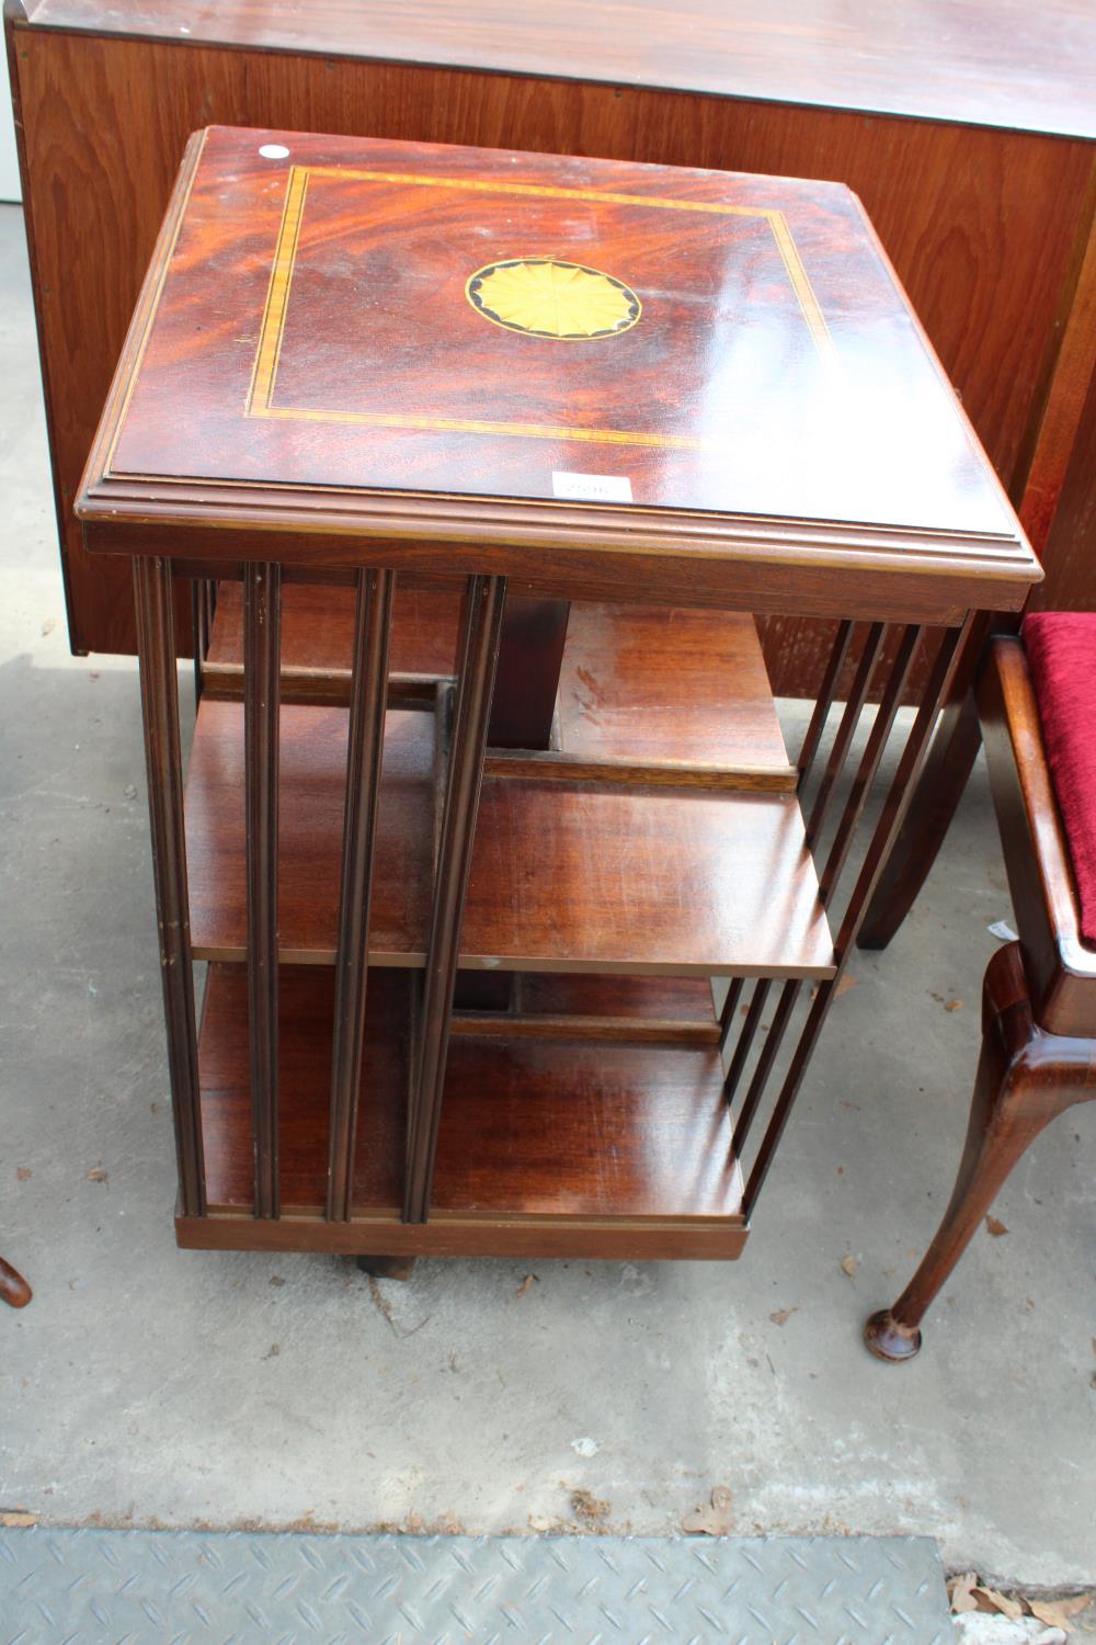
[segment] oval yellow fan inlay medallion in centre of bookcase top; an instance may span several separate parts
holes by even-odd
[[[583,342],[629,331],[642,311],[623,280],[555,257],[521,257],[478,268],[465,286],[485,319],[531,337]]]

